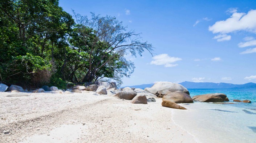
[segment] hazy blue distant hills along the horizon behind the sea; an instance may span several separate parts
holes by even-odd
[[[213,83],[213,82],[182,82],[179,83],[186,88],[256,88],[256,83],[245,83],[245,84],[232,84],[232,83]],[[144,89],[146,87],[153,86],[154,83],[150,84],[141,84],[135,86],[124,86],[124,87],[134,87],[134,88],[141,88]],[[121,87],[121,88],[124,88]]]

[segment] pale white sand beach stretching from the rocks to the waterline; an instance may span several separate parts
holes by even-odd
[[[194,137],[172,121],[162,99],[131,104],[107,95],[0,93],[1,142],[194,143]],[[9,130],[9,134],[3,131]]]

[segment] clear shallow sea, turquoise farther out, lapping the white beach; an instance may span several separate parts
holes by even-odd
[[[194,102],[172,111],[173,121],[202,143],[256,143],[256,88],[188,89],[190,96],[223,93],[235,104]],[[237,103],[233,99],[250,100]]]

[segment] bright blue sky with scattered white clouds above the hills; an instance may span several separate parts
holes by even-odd
[[[256,82],[256,0],[60,0],[60,6],[70,14],[114,16],[153,45],[153,56],[126,55],[136,68],[122,86]]]

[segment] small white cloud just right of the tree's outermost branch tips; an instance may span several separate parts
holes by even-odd
[[[181,58],[178,57],[170,57],[168,54],[160,54],[157,56],[152,57],[153,61],[150,62],[150,64],[154,65],[164,65],[164,67],[174,67],[178,66],[178,64],[173,64],[176,61],[182,60]]]

